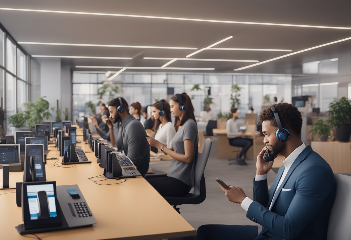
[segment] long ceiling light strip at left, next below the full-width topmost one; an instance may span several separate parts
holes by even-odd
[[[67,43],[54,43],[54,42],[18,42],[18,44],[55,45],[55,46],[84,46],[84,47],[128,47],[128,48],[188,49],[188,50],[197,49],[196,47],[130,46],[130,45],[105,45],[105,44],[67,44]]]

